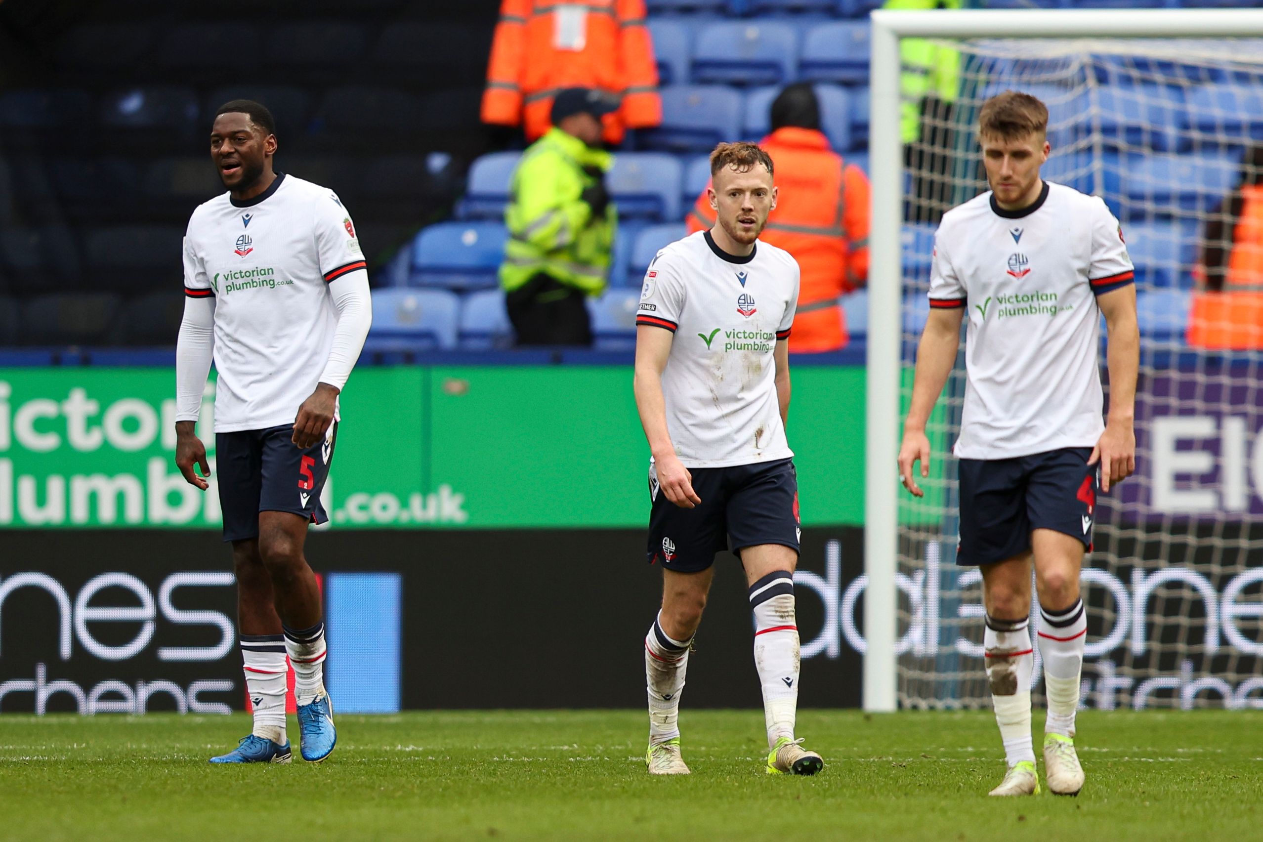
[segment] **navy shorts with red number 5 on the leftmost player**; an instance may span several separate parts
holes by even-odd
[[[215,434],[224,540],[258,538],[260,511],[288,511],[313,524],[328,520],[320,494],[333,462],[337,422],[304,451],[290,441],[293,434],[293,424]]]

